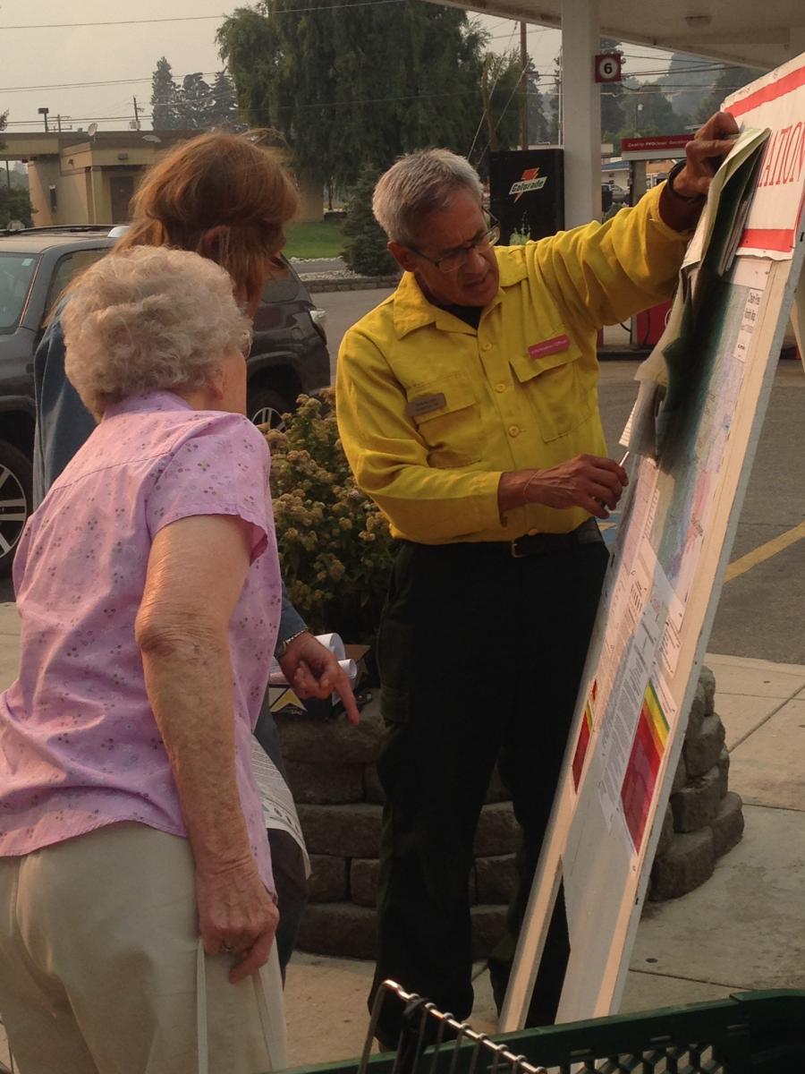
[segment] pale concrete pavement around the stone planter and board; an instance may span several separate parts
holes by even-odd
[[[0,604],[0,690],[19,651],[13,604]],[[744,799],[743,841],[690,895],[648,903],[623,1011],[805,988],[805,666],[708,654],[727,729],[730,787]],[[291,1065],[356,1056],[371,963],[297,954],[286,992]],[[488,976],[475,982],[472,1025],[495,1030]],[[0,1061],[6,1061],[0,1029]]]

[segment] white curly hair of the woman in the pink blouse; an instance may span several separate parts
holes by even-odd
[[[251,342],[232,278],[185,250],[135,246],[96,262],[61,314],[64,371],[87,409],[146,391],[208,384],[223,355]]]

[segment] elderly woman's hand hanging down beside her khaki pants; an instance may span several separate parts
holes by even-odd
[[[195,871],[199,929],[208,955],[237,957],[236,985],[268,961],[279,912],[251,857],[220,869]]]

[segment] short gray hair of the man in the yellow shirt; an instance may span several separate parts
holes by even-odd
[[[478,172],[466,157],[449,149],[420,149],[381,175],[371,208],[375,219],[394,243],[410,245],[416,220],[447,208],[456,188],[483,197]]]

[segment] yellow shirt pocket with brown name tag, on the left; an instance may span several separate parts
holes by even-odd
[[[481,459],[482,422],[478,394],[460,374],[412,384],[406,411],[427,445],[437,469],[471,466]]]

